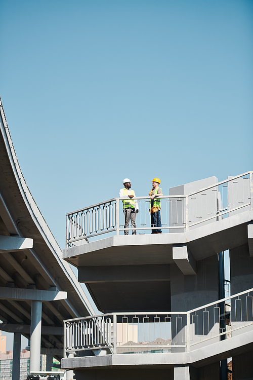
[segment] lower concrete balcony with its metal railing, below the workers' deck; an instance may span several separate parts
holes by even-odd
[[[95,368],[112,374],[127,368],[175,370],[245,354],[253,345],[252,295],[249,289],[188,312],[111,313],[64,321],[62,367],[83,374]]]

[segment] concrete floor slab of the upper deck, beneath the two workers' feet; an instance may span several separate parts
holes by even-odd
[[[252,220],[250,210],[184,233],[112,236],[64,249],[63,258],[75,267],[172,263],[172,246],[187,244],[201,260],[247,243]]]

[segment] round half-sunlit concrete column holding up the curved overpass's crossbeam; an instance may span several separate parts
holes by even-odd
[[[30,371],[39,371],[40,369],[41,311],[42,311],[42,301],[32,301],[31,337],[30,337]]]

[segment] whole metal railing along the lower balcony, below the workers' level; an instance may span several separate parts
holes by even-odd
[[[64,357],[189,352],[253,329],[253,288],[188,312],[109,313],[64,321]]]

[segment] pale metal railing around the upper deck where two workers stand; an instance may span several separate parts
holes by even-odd
[[[161,230],[184,232],[252,209],[252,171],[231,177],[188,195],[161,197]],[[133,198],[139,205],[136,215],[138,233],[150,233],[150,197]],[[66,248],[81,240],[107,234],[123,234],[122,199],[113,198],[66,214]],[[131,233],[134,228],[129,227]],[[78,243],[79,242],[79,243]]]

